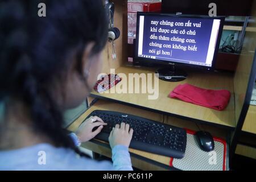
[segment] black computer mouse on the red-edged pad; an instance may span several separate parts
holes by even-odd
[[[205,152],[210,152],[214,150],[214,141],[212,135],[209,132],[197,131],[196,138],[201,150]]]

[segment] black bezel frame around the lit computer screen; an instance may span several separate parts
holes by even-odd
[[[204,19],[220,19],[220,29],[217,36],[216,42],[216,49],[213,54],[213,61],[212,67],[207,67],[203,65],[196,65],[196,64],[187,64],[187,63],[177,63],[176,61],[166,61],[166,60],[159,60],[159,59],[150,59],[146,57],[138,57],[138,47],[139,47],[139,16],[147,16],[147,15],[158,15],[158,16],[171,16],[171,17],[184,17],[184,18],[204,18]],[[134,65],[141,65],[146,67],[155,67],[156,65],[176,65],[178,67],[190,67],[190,68],[199,68],[199,69],[206,69],[208,71],[214,71],[216,60],[217,60],[217,53],[220,47],[220,40],[222,35],[222,30],[224,27],[225,16],[207,16],[207,15],[188,15],[188,14],[166,14],[166,13],[144,13],[138,12],[137,13],[137,30],[136,30],[136,40],[135,40],[135,50],[134,50]]]

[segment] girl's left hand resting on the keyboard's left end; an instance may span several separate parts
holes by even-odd
[[[105,125],[107,125],[107,123],[104,123],[101,118],[97,116],[91,116],[79,126],[79,129],[76,131],[76,135],[81,143],[87,142],[90,139],[93,139],[98,133],[100,133]],[[94,127],[98,128],[93,131]]]

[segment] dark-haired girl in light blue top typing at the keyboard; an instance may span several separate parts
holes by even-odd
[[[40,2],[46,17],[38,16]],[[75,146],[100,133],[102,119],[91,117],[69,135],[61,127],[61,113],[85,100],[100,73],[108,34],[102,0],[40,2],[0,3],[0,169],[131,170],[129,125],[110,134],[113,164]]]

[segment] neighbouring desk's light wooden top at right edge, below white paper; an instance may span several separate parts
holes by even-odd
[[[242,131],[256,134],[256,106],[250,105],[243,123]]]

